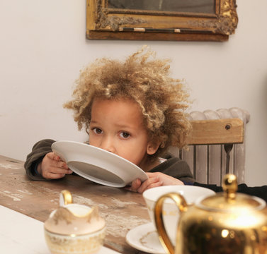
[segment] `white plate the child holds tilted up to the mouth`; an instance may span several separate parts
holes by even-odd
[[[147,180],[147,174],[140,167],[101,148],[64,140],[56,141],[51,147],[69,169],[96,183],[124,187],[137,178]]]

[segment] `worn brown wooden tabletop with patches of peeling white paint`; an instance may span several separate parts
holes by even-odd
[[[74,175],[54,181],[31,181],[23,162],[0,156],[0,205],[45,222],[59,206],[59,193],[64,189],[72,193],[73,202],[98,206],[107,224],[104,246],[125,254],[142,253],[125,241],[130,229],[150,221],[142,194]]]

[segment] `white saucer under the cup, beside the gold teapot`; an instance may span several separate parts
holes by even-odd
[[[157,229],[155,229],[152,222],[131,229],[126,235],[126,242],[133,248],[147,253],[166,253],[161,246]]]

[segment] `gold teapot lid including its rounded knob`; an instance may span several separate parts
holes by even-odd
[[[237,176],[227,174],[222,183],[223,192],[198,200],[198,207],[220,212],[242,212],[246,210],[262,210],[266,203],[261,198],[242,193],[237,194]]]

